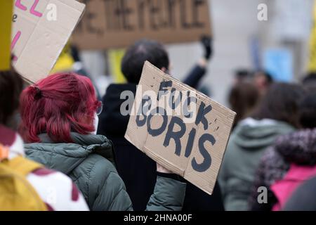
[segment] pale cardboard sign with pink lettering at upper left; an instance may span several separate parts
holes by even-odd
[[[15,0],[11,50],[24,79],[48,76],[84,8],[74,0]]]

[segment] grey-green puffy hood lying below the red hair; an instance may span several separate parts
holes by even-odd
[[[114,162],[112,142],[105,136],[72,133],[71,137],[74,143],[53,143],[48,134],[41,134],[41,143],[25,144],[25,154],[64,174],[70,174],[93,153]]]

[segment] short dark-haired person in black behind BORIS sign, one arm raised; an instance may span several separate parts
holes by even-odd
[[[204,37],[202,43],[205,49],[204,57],[192,69],[185,79],[185,84],[197,88],[200,79],[206,74],[206,65],[211,58],[211,39]],[[156,163],[124,138],[129,115],[121,115],[121,99],[123,91],[136,94],[136,85],[140,81],[143,65],[148,60],[164,72],[169,69],[169,56],[164,46],[157,41],[140,40],[126,51],[121,63],[121,70],[126,77],[127,84],[111,84],[103,97],[103,113],[100,115],[98,134],[111,139],[115,148],[115,160],[119,175],[126,184],[134,210],[144,210],[150,194],[154,189],[157,175]],[[131,109],[130,109],[131,110]],[[183,211],[224,210],[220,188],[216,183],[213,195],[208,195],[199,188],[187,182]]]

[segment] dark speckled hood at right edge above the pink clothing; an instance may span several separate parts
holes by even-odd
[[[306,129],[279,137],[275,150],[287,162],[316,165],[316,129]]]

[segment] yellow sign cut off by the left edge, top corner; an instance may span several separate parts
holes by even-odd
[[[0,1],[0,70],[9,70],[11,64],[11,20],[13,0]]]

